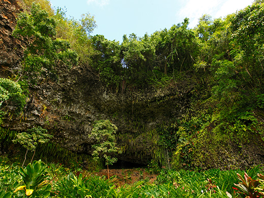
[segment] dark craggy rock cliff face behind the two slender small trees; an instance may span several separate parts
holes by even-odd
[[[179,116],[185,106],[181,104],[185,94],[181,93],[183,96],[180,97],[173,89],[139,91],[131,88],[126,94],[112,93],[85,65],[59,71],[57,82],[42,79],[38,85],[31,86],[23,114],[12,119],[9,115],[3,126],[26,130],[41,125],[49,129],[55,141],[64,148],[91,153],[92,140],[88,135],[92,122],[110,119],[118,127],[119,145],[126,147],[126,154],[119,158],[147,163],[153,148],[152,139],[146,138],[147,132],[164,120],[170,120],[170,116]],[[178,106],[178,109],[172,106]]]

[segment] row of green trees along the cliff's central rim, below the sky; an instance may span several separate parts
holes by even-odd
[[[161,83],[162,78],[175,79],[178,73],[192,69],[197,42],[187,28],[188,19],[171,29],[156,31],[139,38],[135,34],[123,36],[123,42],[108,41],[104,36],[92,37],[93,67],[101,80],[116,90],[122,82],[137,87]],[[164,75],[164,76],[163,76]]]

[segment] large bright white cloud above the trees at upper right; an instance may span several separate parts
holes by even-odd
[[[209,14],[213,18],[225,17],[251,5],[252,2],[253,0],[186,0],[177,16],[188,17],[189,27],[194,27],[204,14]]]

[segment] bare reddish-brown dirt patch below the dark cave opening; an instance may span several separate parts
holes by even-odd
[[[94,173],[97,176],[106,176],[107,169],[102,169],[98,173]],[[135,182],[145,180],[153,183],[157,175],[148,173],[145,169],[109,169],[109,177],[115,178],[115,183],[119,186],[124,184],[133,184]]]

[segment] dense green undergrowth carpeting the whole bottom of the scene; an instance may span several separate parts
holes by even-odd
[[[247,170],[203,172],[158,171],[157,179],[117,185],[117,177],[98,177],[82,169],[69,169],[41,160],[21,168],[1,157],[1,197],[263,197],[260,167]],[[240,175],[244,176],[245,179]],[[251,176],[251,177],[249,177]]]

